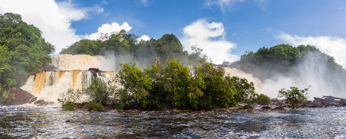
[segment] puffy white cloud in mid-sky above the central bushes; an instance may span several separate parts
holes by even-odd
[[[180,39],[181,43],[188,52],[192,52],[190,46],[197,44],[215,63],[221,64],[223,60],[233,62],[239,59],[238,55],[230,54],[236,44],[226,41],[226,32],[221,22],[208,23],[206,19],[198,19],[184,27],[181,32],[184,35]]]

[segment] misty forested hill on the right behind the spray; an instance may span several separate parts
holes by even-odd
[[[338,90],[346,87],[346,70],[333,57],[322,53],[312,45],[293,47],[288,44],[279,44],[273,47],[262,47],[253,51],[245,51],[239,60],[224,61],[230,68],[251,73],[261,80],[275,76],[297,78],[303,69],[312,74],[320,74],[325,82],[329,82]],[[317,73],[318,72],[318,73]]]

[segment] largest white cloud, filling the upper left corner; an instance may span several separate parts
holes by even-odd
[[[0,3],[0,13],[20,14],[23,21],[38,27],[43,32],[45,40],[55,45],[55,54],[81,39],[70,27],[71,21],[103,12],[103,8],[98,6],[79,7],[73,1],[55,3],[53,0],[2,0]]]

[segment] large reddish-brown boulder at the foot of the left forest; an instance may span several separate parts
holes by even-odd
[[[23,105],[28,103],[31,98],[35,97],[33,94],[30,94],[26,90],[20,89],[18,87],[10,88],[8,92],[9,96],[15,94],[15,99],[13,100],[12,97],[7,98],[5,100],[5,104],[7,105]]]

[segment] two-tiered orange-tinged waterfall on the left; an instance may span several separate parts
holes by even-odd
[[[38,97],[38,99],[57,102],[58,95],[69,88],[80,90],[88,88],[93,75],[90,70],[86,69],[101,67],[101,70],[112,70],[112,64],[109,64],[110,61],[103,56],[63,54],[53,55],[51,58],[51,65],[59,69],[30,76],[26,84],[20,88]],[[97,78],[108,81],[116,74],[114,71],[98,71]]]

